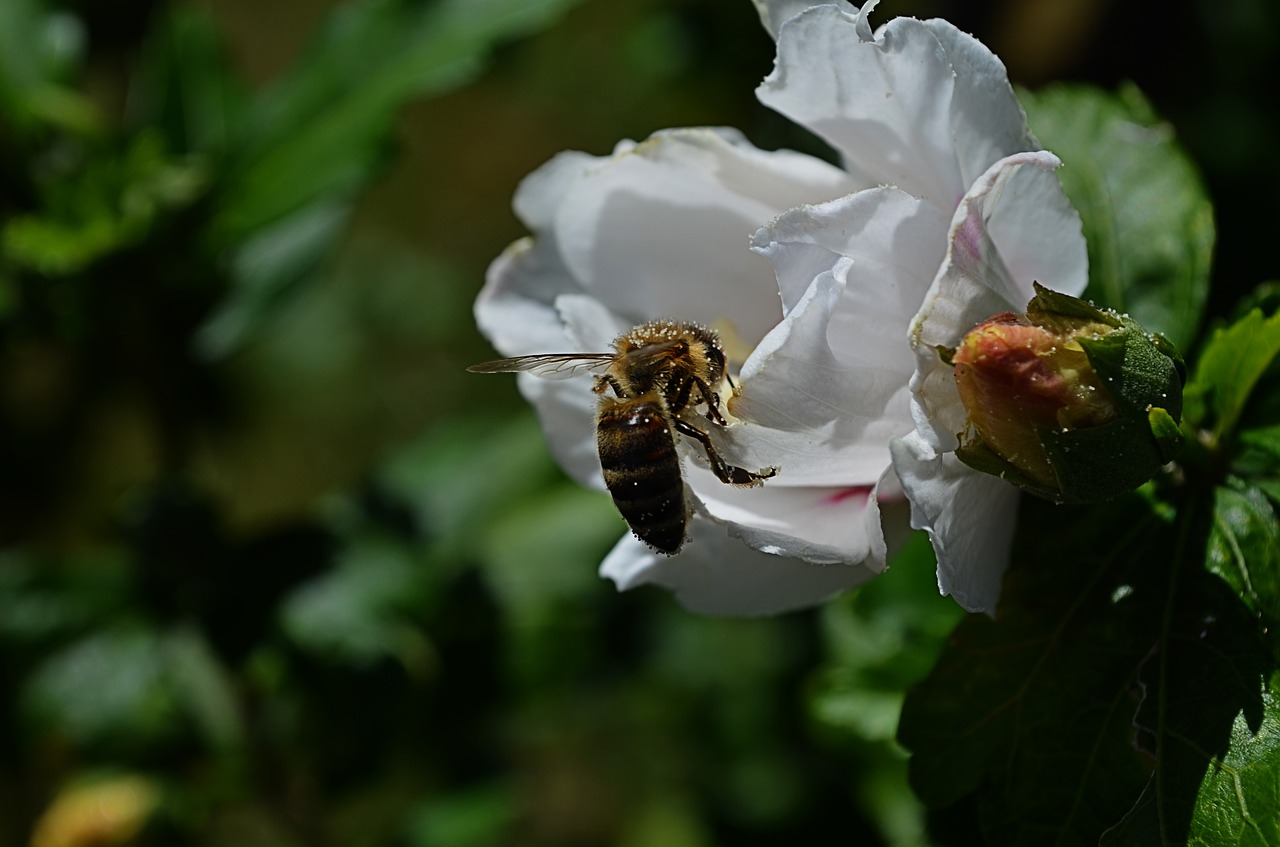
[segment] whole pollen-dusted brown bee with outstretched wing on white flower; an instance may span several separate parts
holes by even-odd
[[[516,356],[467,370],[527,371],[548,379],[595,374],[595,445],[604,485],[636,537],[667,555],[684,545],[690,513],[676,432],[701,444],[726,485],[754,487],[778,472],[730,464],[695,424],[703,407],[708,422],[726,426],[717,389],[728,384],[732,390],[719,335],[699,324],[649,321],[618,335],[611,353]]]

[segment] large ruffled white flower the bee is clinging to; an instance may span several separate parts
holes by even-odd
[[[873,3],[756,1],[778,44],[762,101],[844,168],[727,129],[562,154],[517,192],[535,238],[493,264],[477,322],[504,356],[607,351],[655,317],[732,329],[739,421],[708,429],[735,464],[781,471],[735,489],[682,445],[690,542],[663,557],[625,536],[602,566],[621,589],[663,585],[709,613],[813,604],[883,569],[910,509],[942,590],[989,610],[1016,499],[947,454],[959,400],[927,345],[1025,307],[1032,280],[1083,288],[1057,160],[1028,152],[1004,67],[946,22],[873,33]],[[590,380],[520,386],[567,472],[602,486]]]

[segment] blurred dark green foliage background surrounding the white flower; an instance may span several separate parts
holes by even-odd
[[[1275,274],[1270,0],[890,0],[1135,82]],[[0,847],[963,843],[892,737],[927,544],[820,610],[617,595],[471,322],[563,148],[764,110],[748,0],[0,0]],[[938,828],[934,828],[936,830]]]

